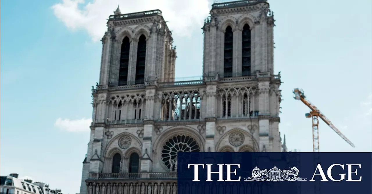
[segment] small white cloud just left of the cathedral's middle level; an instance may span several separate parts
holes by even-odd
[[[88,132],[90,131],[90,123],[92,122],[92,119],[76,119],[76,120],[70,120],[70,119],[61,119],[58,118],[54,126],[57,128],[60,128],[64,131],[70,131],[70,132]]]

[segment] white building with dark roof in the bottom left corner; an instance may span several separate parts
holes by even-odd
[[[48,184],[18,178],[18,174],[0,176],[0,194],[62,194],[60,189],[51,189]]]

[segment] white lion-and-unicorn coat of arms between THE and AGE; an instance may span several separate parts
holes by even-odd
[[[296,167],[289,170],[280,170],[277,167],[260,170],[256,167],[252,170],[252,176],[244,178],[244,181],[306,181],[306,178],[298,177],[298,174],[299,170]]]

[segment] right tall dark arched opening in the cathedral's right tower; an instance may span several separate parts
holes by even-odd
[[[248,24],[243,27],[241,45],[241,76],[249,76],[251,75],[251,30]]]

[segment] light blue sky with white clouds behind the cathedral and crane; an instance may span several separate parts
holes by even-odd
[[[161,9],[177,46],[176,77],[200,76],[200,28],[211,1],[184,2],[0,1],[0,174],[16,172],[78,193],[105,19],[118,4],[122,13]],[[309,109],[292,98],[299,87],[356,145],[321,121],[321,151],[372,151],[372,1],[342,2],[269,0],[275,72],[284,82],[279,129],[289,149],[312,151]]]

